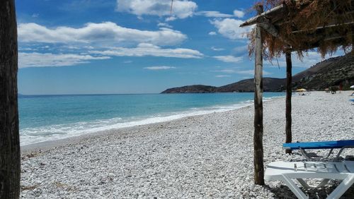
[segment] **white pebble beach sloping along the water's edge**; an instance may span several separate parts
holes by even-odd
[[[352,92],[295,94],[293,142],[353,139]],[[282,149],[285,98],[263,105],[265,167],[304,159]],[[249,106],[24,146],[21,197],[296,198],[280,181],[254,185],[253,114]],[[306,193],[326,198],[337,184]],[[342,198],[354,198],[354,187]]]

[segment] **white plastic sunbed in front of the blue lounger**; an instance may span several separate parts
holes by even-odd
[[[342,180],[328,196],[328,198],[339,198],[354,183],[354,161],[271,162],[265,169],[264,179],[266,181],[284,181],[297,198],[307,198],[307,195],[292,179],[297,179],[304,188],[311,188],[304,179],[324,179],[316,188],[325,186],[329,179]]]

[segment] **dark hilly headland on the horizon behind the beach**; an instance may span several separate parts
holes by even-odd
[[[263,78],[263,90],[265,92],[285,90],[285,82],[285,78]],[[292,77],[292,88],[294,89],[323,90],[340,83],[344,85],[344,88],[354,84],[354,56],[351,54],[326,59]],[[179,88],[169,88],[161,93],[253,92],[253,90],[252,78],[221,87],[187,85]]]

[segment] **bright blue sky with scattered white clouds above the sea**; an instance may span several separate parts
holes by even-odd
[[[171,0],[16,0],[18,92],[159,93],[253,78],[251,28],[239,25],[255,2],[173,0],[171,10]],[[293,54],[292,73],[321,60]],[[265,61],[263,76],[285,78],[284,57]]]

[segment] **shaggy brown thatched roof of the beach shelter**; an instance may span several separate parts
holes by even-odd
[[[354,0],[268,0],[265,6],[268,11],[240,25],[261,25],[265,56],[280,56],[285,51],[301,55],[314,48],[322,56],[338,47],[352,50]],[[249,38],[251,53],[253,31]]]

